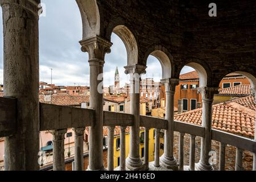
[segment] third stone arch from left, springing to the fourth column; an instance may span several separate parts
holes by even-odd
[[[162,67],[162,78],[171,78],[172,77],[172,55],[167,51],[166,48],[162,46],[154,46],[148,49],[144,60],[147,60],[147,57],[151,55],[156,57],[159,60]]]

